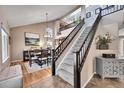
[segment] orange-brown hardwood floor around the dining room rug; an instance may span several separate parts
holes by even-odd
[[[43,69],[43,70],[33,72],[33,73],[28,73],[28,71],[24,65],[24,62],[15,62],[15,63],[12,63],[11,66],[16,65],[16,64],[21,65],[22,73],[23,73],[23,87],[24,88],[30,87],[32,84],[35,84],[35,83],[39,82],[40,80],[51,76],[50,68]]]

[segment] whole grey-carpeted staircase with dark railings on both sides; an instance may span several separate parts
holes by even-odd
[[[76,37],[79,30],[84,27],[84,21],[80,23],[67,38],[52,52],[52,75],[58,75],[63,80],[70,83],[75,88],[81,87],[81,71],[85,60],[87,58],[90,46],[95,36],[100,19],[108,14],[120,11],[123,9],[123,5],[117,7],[107,7],[100,9],[99,14],[96,17],[95,22],[92,26],[86,26],[81,32],[78,39],[72,45],[72,48],[67,52],[67,56],[61,63],[56,66],[56,61],[59,59],[63,51],[68,47],[74,37]],[[109,12],[106,11],[109,10]],[[64,46],[64,47],[63,47]]]

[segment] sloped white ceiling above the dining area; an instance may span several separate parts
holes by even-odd
[[[10,27],[17,27],[56,20],[66,15],[77,5],[4,5],[0,6]]]

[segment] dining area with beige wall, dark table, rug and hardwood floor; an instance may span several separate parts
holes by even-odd
[[[48,24],[54,28],[53,23]],[[11,65],[21,65],[23,87],[51,76],[53,37],[45,29],[44,23],[11,28]]]

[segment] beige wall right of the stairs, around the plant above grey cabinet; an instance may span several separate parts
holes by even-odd
[[[112,41],[112,43],[109,45],[109,50],[97,50],[96,49],[96,43],[95,38],[93,39],[91,48],[89,50],[88,56],[86,58],[84,67],[82,69],[82,86],[85,85],[85,83],[91,78],[91,76],[95,72],[95,57],[102,56],[102,53],[115,53],[116,56],[118,56],[118,24],[112,23],[112,24],[105,24],[104,21],[107,21],[110,16],[103,17],[99,23],[97,32],[95,34],[95,38],[98,35],[103,35],[106,32],[109,32],[112,37],[115,37],[115,40]],[[109,21],[109,20],[108,20]]]

